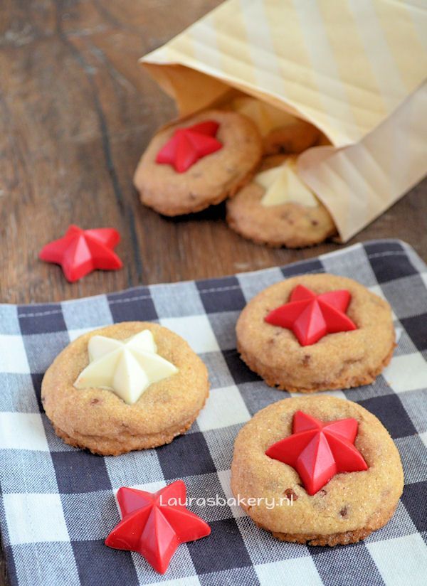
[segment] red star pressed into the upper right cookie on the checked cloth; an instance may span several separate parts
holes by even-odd
[[[307,287],[297,285],[290,302],[270,311],[265,321],[292,330],[301,346],[310,346],[326,334],[357,329],[345,314],[350,299],[345,289],[316,295]]]

